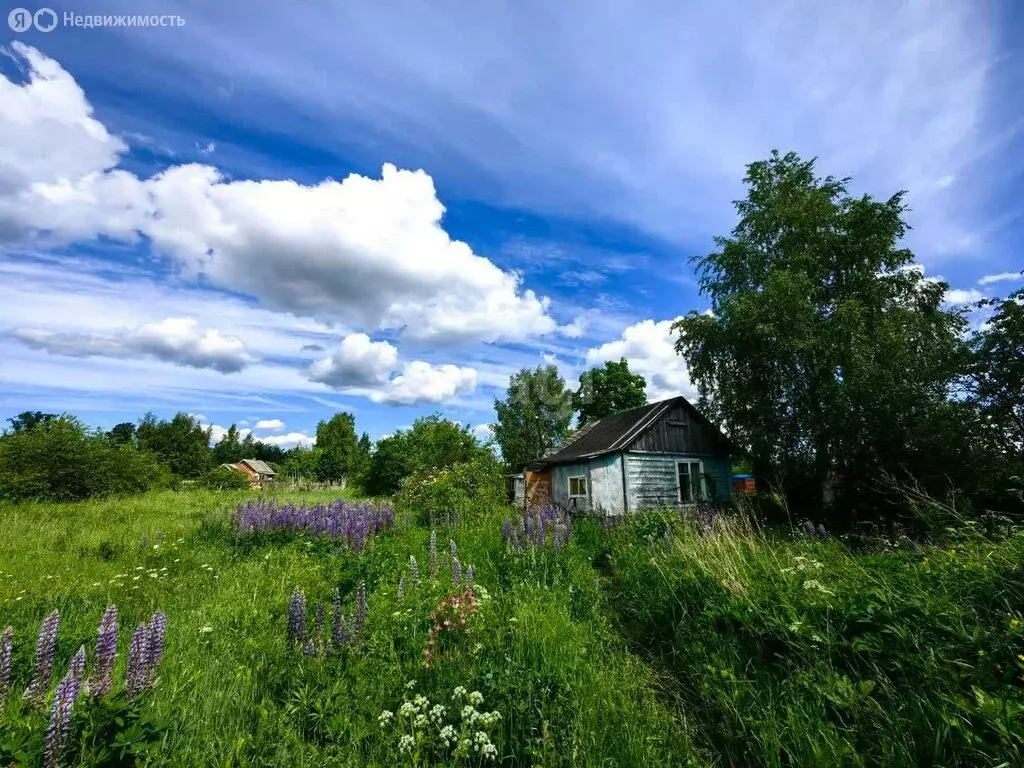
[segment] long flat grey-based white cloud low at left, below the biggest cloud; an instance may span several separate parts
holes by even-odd
[[[114,334],[76,334],[18,328],[11,335],[35,349],[70,357],[155,357],[187,368],[238,373],[252,360],[245,342],[201,329],[193,317],[168,317]]]

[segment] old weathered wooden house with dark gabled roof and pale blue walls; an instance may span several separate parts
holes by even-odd
[[[623,411],[581,427],[526,467],[523,497],[532,508],[618,515],[728,501],[729,441],[685,398]]]

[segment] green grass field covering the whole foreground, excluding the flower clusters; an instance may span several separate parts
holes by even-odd
[[[422,695],[454,716],[459,686],[501,714],[489,728],[498,765],[1020,764],[1020,535],[857,554],[651,514],[611,530],[581,521],[557,555],[519,554],[502,539],[506,512],[480,510],[437,528],[433,584],[430,530],[408,514],[355,553],[304,535],[236,536],[225,514],[246,497],[0,506],[0,628],[14,629],[0,761],[42,764],[47,715],[20,691],[43,617],[60,610],[58,678],[81,644],[91,663],[114,603],[120,667],[132,628],[156,609],[168,615],[166,653],[133,706],[144,727],[118,744],[86,737],[80,700],[71,764],[485,764],[453,756],[432,722],[414,749],[399,746],[413,727],[402,701]],[[450,540],[483,589],[470,631],[445,637],[428,669],[428,614],[456,592]],[[312,612],[340,588],[351,613],[359,582],[361,642],[313,656],[289,647],[293,590]],[[383,711],[394,720],[382,725]]]

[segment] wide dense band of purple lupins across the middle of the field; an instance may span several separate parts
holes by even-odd
[[[234,512],[239,534],[260,530],[319,534],[347,541],[361,551],[377,532],[391,527],[394,510],[390,504],[349,502],[339,499],[330,504],[283,504],[273,499],[260,499],[240,504]]]

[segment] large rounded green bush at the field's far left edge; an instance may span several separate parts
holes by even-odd
[[[170,476],[156,458],[131,444],[90,434],[60,417],[0,437],[0,498],[78,501],[166,487]]]

